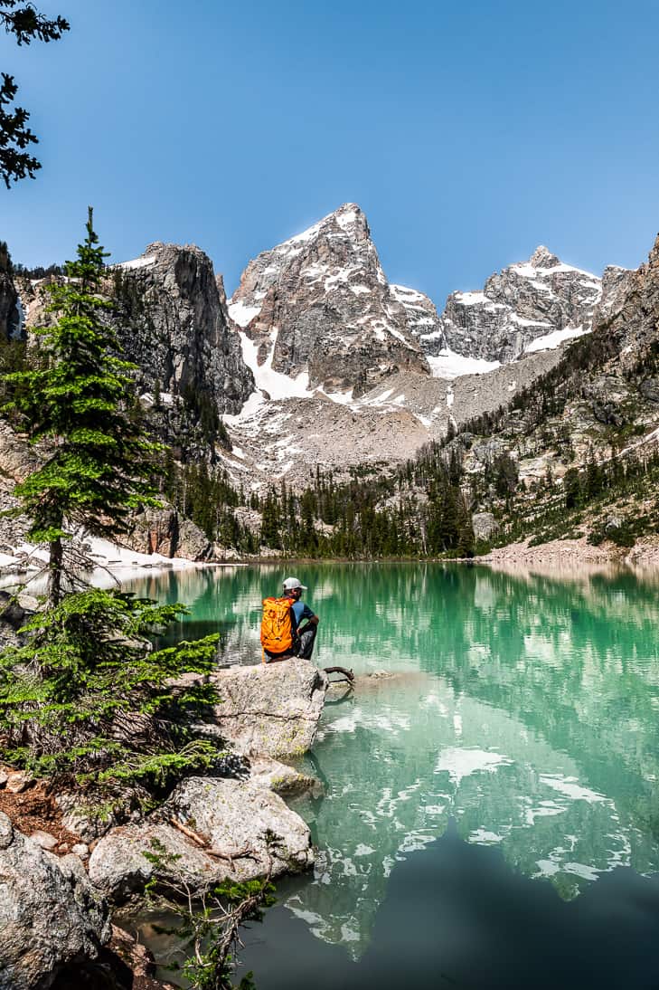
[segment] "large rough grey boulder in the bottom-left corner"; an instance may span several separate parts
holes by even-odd
[[[0,813],[0,990],[46,990],[110,939],[105,904],[78,856],[57,858]]]

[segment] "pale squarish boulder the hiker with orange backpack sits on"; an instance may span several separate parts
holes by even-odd
[[[297,756],[311,748],[328,678],[308,660],[230,667],[213,680],[222,698],[216,725],[238,752]]]

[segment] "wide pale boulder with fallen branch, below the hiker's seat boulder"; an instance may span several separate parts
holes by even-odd
[[[207,846],[190,841],[169,824],[171,819],[193,830]],[[271,850],[266,832],[279,839]],[[118,904],[139,895],[153,873],[144,852],[152,852],[154,843],[178,857],[175,866],[163,863],[161,875],[175,869],[197,891],[229,878],[263,876],[270,855],[273,876],[302,872],[314,863],[308,827],[273,791],[258,782],[191,777],[140,825],[112,829],[98,842],[89,860],[92,883]]]

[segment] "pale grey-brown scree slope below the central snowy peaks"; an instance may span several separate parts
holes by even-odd
[[[262,403],[229,420],[234,442],[222,460],[236,487],[267,489],[286,478],[309,483],[316,467],[347,477],[351,465],[389,469],[414,456],[447,428],[506,405],[559,360],[559,348],[528,354],[488,374],[452,380],[401,371],[356,401],[333,402],[323,393]]]

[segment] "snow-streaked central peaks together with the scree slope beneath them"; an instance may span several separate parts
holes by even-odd
[[[609,291],[621,280],[612,271]],[[230,303],[260,389],[228,420],[230,474],[295,485],[310,466],[405,459],[532,385],[590,330],[601,297],[599,278],[538,247],[438,316],[387,282],[366,218],[346,204],[259,254]]]

